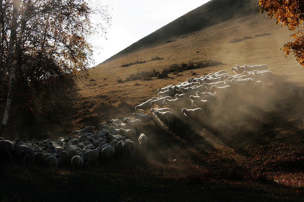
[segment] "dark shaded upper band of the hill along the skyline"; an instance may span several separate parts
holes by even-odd
[[[105,62],[127,53],[135,52],[144,47],[156,46],[168,42],[177,36],[186,35],[220,22],[229,21],[232,18],[240,18],[256,13],[257,4],[252,0],[213,0],[159,28],[116,55],[113,55]]]

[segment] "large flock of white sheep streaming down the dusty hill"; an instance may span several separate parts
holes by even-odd
[[[97,127],[73,131],[75,136],[55,141],[0,140],[0,161],[15,161],[22,166],[81,169],[93,164],[98,166],[98,161],[108,163],[114,157],[133,157],[136,147],[144,149],[148,142],[148,137],[141,133],[142,126],[151,121],[148,111],[162,127],[173,124],[174,110],[184,114],[189,124],[204,123],[205,116],[212,116],[216,108],[224,107],[227,102],[247,95],[261,96],[264,85],[272,84],[273,73],[267,69],[267,65],[237,65],[231,68],[236,75],[222,70],[159,88],[158,97],[135,107],[135,111],[147,114],[132,113],[132,118],[120,116]]]

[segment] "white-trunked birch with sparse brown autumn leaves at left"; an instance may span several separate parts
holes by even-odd
[[[12,100],[33,110],[37,97],[53,93],[54,85],[70,88],[81,73],[86,75],[93,62],[88,38],[104,35],[111,23],[107,6],[98,5],[86,0],[0,0],[1,137]],[[93,23],[92,16],[99,21]]]

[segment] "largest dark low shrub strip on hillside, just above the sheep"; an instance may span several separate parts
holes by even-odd
[[[188,63],[183,62],[181,64],[172,64],[169,67],[164,68],[161,74],[168,76],[169,73],[179,73],[185,70],[205,68],[205,67],[218,66],[218,65],[223,65],[223,63],[212,60],[205,60],[198,62],[190,61]]]

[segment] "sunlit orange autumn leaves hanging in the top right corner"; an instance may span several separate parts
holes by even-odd
[[[291,51],[300,65],[304,66],[304,36],[303,30],[297,30],[299,25],[304,28],[304,1],[292,0],[259,0],[259,11],[267,12],[269,18],[276,18],[276,23],[288,26],[295,33],[291,35],[292,42],[288,42],[282,48],[285,57]]]

